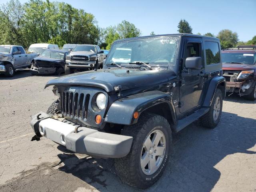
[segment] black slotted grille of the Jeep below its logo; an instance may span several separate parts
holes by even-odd
[[[77,92],[61,92],[60,103],[62,115],[70,116],[70,118],[87,118],[90,94]]]

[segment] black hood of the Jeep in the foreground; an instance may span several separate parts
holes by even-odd
[[[168,82],[176,77],[171,70],[97,70],[70,74],[50,80],[46,86],[92,86],[104,89],[106,92],[114,91],[114,87],[121,85],[122,90],[154,86]]]

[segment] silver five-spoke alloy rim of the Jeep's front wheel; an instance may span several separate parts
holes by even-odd
[[[166,150],[166,139],[160,130],[152,131],[143,143],[140,166],[144,174],[152,175],[160,167]]]

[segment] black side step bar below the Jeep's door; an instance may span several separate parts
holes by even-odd
[[[188,126],[189,124],[191,124],[192,122],[197,120],[198,118],[202,117],[209,110],[210,110],[209,107],[202,107],[202,108],[198,109],[197,111],[195,111],[194,113],[192,113],[191,115],[178,120],[175,132],[179,132],[180,130],[182,130],[183,128],[185,128],[186,126]]]

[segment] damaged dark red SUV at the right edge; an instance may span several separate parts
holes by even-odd
[[[256,99],[256,45],[242,45],[222,50],[226,92],[248,100]]]

